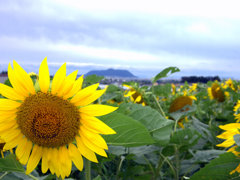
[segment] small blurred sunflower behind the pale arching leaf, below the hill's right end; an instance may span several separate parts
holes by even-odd
[[[146,106],[146,102],[143,99],[142,93],[129,85],[124,84],[123,86],[128,88],[128,90],[125,91],[124,97],[130,97],[132,102]]]

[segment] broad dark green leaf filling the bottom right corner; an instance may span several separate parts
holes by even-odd
[[[237,158],[232,153],[224,153],[212,160],[209,164],[207,164],[204,168],[200,169],[197,173],[195,173],[191,180],[226,180],[226,179],[234,179],[239,174],[234,173],[230,175],[230,172],[234,170],[238,164],[240,163],[240,159]],[[235,178],[236,179],[236,178]]]

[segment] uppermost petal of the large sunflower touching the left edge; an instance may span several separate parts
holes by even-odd
[[[0,94],[4,97],[12,100],[24,100],[24,96],[18,94],[13,88],[5,84],[0,83]]]

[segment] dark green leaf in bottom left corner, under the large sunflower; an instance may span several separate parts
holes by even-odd
[[[16,156],[10,154],[5,158],[0,159],[0,172],[13,171],[13,172],[25,172],[23,166],[17,161]]]

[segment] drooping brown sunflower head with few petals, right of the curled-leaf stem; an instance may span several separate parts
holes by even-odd
[[[179,110],[182,111],[188,111],[189,108],[183,109],[185,106],[192,106],[193,104],[193,100],[196,100],[195,96],[188,96],[188,95],[183,95],[183,96],[179,96],[176,99],[173,100],[173,102],[171,103],[168,112],[169,113],[173,113]],[[187,117],[185,117],[184,119],[180,119],[178,121],[178,125],[181,128],[184,128],[183,126],[183,121],[185,120],[185,122],[188,121]]]

